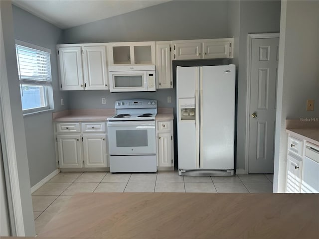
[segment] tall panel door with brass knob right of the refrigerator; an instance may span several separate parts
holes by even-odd
[[[274,172],[279,38],[252,40],[249,173]]]

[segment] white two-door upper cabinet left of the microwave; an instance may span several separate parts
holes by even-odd
[[[60,90],[109,89],[106,45],[58,45],[57,50]]]

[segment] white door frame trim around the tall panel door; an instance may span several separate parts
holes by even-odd
[[[254,39],[279,38],[278,33],[257,33],[247,36],[247,88],[246,88],[246,137],[245,137],[245,169],[244,174],[249,173],[249,125],[250,125],[250,85],[251,85],[251,53]],[[277,92],[276,92],[277,94]],[[237,170],[236,170],[237,171]]]

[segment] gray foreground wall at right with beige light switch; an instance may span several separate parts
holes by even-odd
[[[274,192],[285,191],[285,120],[319,117],[319,1],[284,1],[281,14]]]

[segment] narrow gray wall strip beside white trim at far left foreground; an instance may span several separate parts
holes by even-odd
[[[3,65],[1,64],[1,73],[3,74],[3,70],[6,70],[24,232],[25,236],[34,237],[35,231],[30,193],[29,167],[15,56],[11,1],[0,1],[0,10],[6,64],[5,69],[3,69],[4,67],[2,68]],[[2,78],[2,74],[1,81],[4,81],[6,79],[3,79],[4,77]],[[1,135],[1,139],[3,140],[3,135]],[[1,144],[5,143],[4,141],[1,142]],[[7,155],[7,160],[11,159],[10,156],[11,155]],[[3,158],[3,160],[6,159]]]

